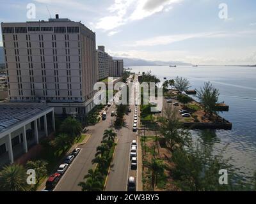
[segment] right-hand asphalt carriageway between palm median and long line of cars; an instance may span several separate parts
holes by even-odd
[[[105,191],[127,191],[127,179],[132,176],[136,179],[136,170],[131,170],[130,147],[137,134],[132,131],[134,119],[134,105],[130,106],[132,112],[125,115],[125,127],[118,131],[118,144],[116,145],[110,173]]]

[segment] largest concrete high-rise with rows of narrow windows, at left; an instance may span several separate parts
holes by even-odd
[[[58,15],[1,23],[1,28],[11,102],[47,101],[58,114],[92,110],[98,79],[95,33]]]

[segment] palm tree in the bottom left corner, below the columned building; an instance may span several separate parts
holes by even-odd
[[[4,166],[0,171],[0,191],[31,191],[27,177],[25,169],[19,164]]]

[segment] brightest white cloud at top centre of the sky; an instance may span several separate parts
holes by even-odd
[[[115,3],[107,9],[108,15],[99,18],[95,28],[109,31],[133,20],[141,20],[161,11],[170,11],[172,4],[181,1],[183,0],[115,0]]]

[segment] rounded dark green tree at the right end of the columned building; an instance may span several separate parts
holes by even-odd
[[[78,120],[68,117],[61,123],[61,132],[66,133],[73,138],[77,138],[81,136],[81,132],[83,131],[82,124]]]

